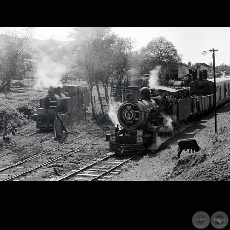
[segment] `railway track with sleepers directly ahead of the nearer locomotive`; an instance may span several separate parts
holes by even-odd
[[[102,159],[98,159],[91,164],[84,166],[78,170],[72,170],[72,172],[63,176],[51,178],[47,181],[104,181],[106,178],[110,178],[109,174],[118,174],[121,172],[118,168],[136,157],[132,155],[130,157],[116,157],[115,154],[108,155]]]

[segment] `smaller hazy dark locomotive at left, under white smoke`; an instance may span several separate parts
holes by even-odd
[[[65,128],[70,120],[82,119],[89,101],[90,94],[87,87],[78,85],[50,87],[48,95],[40,99],[40,107],[32,119],[36,121],[36,128],[39,131],[56,131],[55,126],[58,124]]]

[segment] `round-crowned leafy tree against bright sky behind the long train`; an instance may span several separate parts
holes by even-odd
[[[143,73],[151,71],[156,66],[161,66],[166,71],[174,69],[181,62],[174,45],[164,37],[150,41],[146,48],[142,48],[141,56],[141,72]]]

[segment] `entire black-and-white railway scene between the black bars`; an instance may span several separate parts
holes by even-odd
[[[229,181],[229,153],[230,27],[0,27],[1,181]]]

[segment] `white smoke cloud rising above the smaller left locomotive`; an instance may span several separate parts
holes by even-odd
[[[49,56],[42,57],[35,66],[36,79],[34,89],[48,89],[61,86],[62,75],[66,73],[66,66],[53,61]]]

